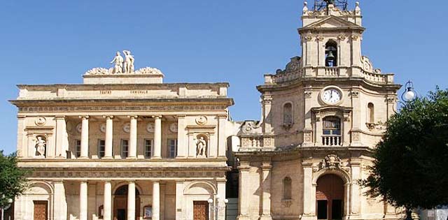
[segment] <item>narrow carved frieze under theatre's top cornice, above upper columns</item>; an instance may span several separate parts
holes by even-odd
[[[147,110],[225,110],[223,105],[142,105],[142,106],[76,106],[20,107],[19,112],[147,111]]]

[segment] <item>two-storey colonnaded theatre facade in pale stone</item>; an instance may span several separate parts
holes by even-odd
[[[225,205],[228,83],[165,84],[155,68],[83,77],[18,86],[19,166],[33,172],[15,219],[193,219],[197,201]]]

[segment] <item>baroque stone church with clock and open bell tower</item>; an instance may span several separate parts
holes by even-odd
[[[361,10],[305,2],[302,57],[257,87],[262,119],[238,133],[239,220],[398,219],[363,195],[372,149],[395,112],[393,74],[361,55]]]

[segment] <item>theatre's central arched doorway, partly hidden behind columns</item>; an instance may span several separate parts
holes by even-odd
[[[113,219],[126,220],[127,219],[127,185],[123,185],[116,189],[113,193]],[[140,214],[140,192],[135,189],[135,219],[138,219]]]

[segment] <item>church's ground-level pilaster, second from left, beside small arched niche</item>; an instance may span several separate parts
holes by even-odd
[[[270,220],[271,217],[271,163],[263,162],[260,172],[262,195],[262,216],[260,220]]]

